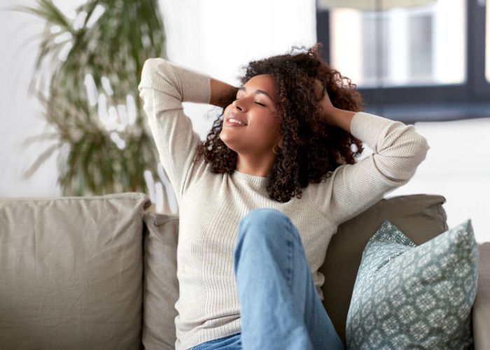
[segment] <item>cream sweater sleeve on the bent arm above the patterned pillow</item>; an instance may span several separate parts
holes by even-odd
[[[370,113],[358,112],[353,116],[351,134],[374,153],[353,165],[337,167],[328,179],[310,184],[305,191],[337,225],[407,183],[430,148],[414,125]]]

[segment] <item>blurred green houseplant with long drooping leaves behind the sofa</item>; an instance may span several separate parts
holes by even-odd
[[[63,195],[143,192],[144,172],[156,176],[158,154],[137,85],[147,58],[166,57],[158,1],[88,0],[75,18],[52,0],[12,10],[45,21],[29,90],[54,130],[27,140],[54,144],[25,176],[59,150]]]

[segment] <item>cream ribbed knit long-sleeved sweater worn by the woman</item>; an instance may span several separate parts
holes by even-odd
[[[300,232],[323,300],[324,276],[318,268],[337,226],[407,183],[429,149],[413,125],[358,112],[351,134],[374,153],[355,165],[338,167],[321,183],[309,184],[302,199],[279,203],[267,195],[265,177],[237,171],[214,174],[203,158],[193,164],[201,141],[183,113],[182,102],[209,104],[209,75],[165,59],[148,59],[139,91],[179,203],[177,350],[241,331],[232,262],[239,221],[249,211],[273,208],[289,216]]]

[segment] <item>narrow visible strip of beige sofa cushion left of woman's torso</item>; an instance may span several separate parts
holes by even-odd
[[[179,299],[177,241],[179,216],[144,216],[143,337],[145,349],[174,349],[174,305]]]

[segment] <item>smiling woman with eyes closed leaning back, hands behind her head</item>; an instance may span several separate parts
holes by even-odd
[[[320,47],[250,62],[239,88],[144,64],[140,96],[179,202],[176,349],[344,349],[322,305],[328,243],[429,146],[413,125],[361,112]],[[223,107],[206,141],[184,101]],[[362,141],[374,153],[355,162]]]

